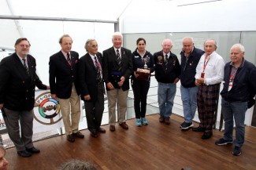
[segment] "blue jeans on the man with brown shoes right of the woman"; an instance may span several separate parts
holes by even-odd
[[[158,82],[158,105],[160,115],[168,118],[173,113],[176,84]]]

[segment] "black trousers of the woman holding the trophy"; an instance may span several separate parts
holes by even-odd
[[[150,81],[132,80],[134,94],[135,118],[145,118],[147,107],[147,92],[150,89]]]

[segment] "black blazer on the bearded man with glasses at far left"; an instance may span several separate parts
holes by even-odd
[[[35,58],[28,55],[27,60],[29,74],[16,52],[0,63],[0,103],[9,110],[32,110],[35,85],[39,89],[47,89],[35,72]]]

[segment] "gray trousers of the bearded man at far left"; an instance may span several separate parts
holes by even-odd
[[[32,148],[33,110],[15,111],[6,108],[3,108],[3,110],[6,114],[3,118],[6,122],[7,132],[16,150],[22,151],[26,148]]]

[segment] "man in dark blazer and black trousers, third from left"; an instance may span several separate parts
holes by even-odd
[[[87,128],[91,136],[106,132],[102,125],[104,111],[104,85],[102,81],[102,54],[95,39],[88,39],[84,48],[87,53],[79,60],[81,99],[84,101]]]

